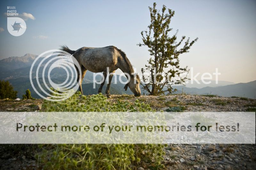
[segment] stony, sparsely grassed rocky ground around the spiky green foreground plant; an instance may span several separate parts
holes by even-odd
[[[131,95],[112,95],[110,102],[133,102]],[[244,97],[217,97],[213,95],[141,96],[139,99],[157,110],[180,107],[186,111],[255,112],[256,100]],[[36,111],[43,100],[0,100],[0,111]],[[38,107],[39,106],[39,107]],[[17,147],[17,146],[16,146]],[[26,154],[15,153],[12,145],[0,145],[0,169],[37,169],[31,154],[33,147],[23,146]],[[11,151],[12,152],[11,152]],[[9,151],[9,152],[8,152]],[[166,169],[256,169],[255,144],[170,144],[165,148]],[[137,169],[147,169],[141,163]]]

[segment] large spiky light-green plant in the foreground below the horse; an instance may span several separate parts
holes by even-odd
[[[80,96],[80,97],[79,97]],[[110,103],[102,94],[73,95],[62,102],[44,101],[47,112],[150,112],[148,104],[138,99],[134,103]],[[162,144],[48,144],[40,145],[36,158],[44,169],[129,169],[144,161],[156,169],[164,168]]]

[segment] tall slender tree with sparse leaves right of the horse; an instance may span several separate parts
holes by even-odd
[[[149,75],[145,75],[145,69],[141,68],[143,89],[147,90],[150,95],[171,94],[176,89],[172,89],[174,84],[182,84],[187,80],[188,66],[180,67],[179,55],[189,52],[190,47],[197,41],[198,38],[190,42],[190,38],[182,36],[181,40],[177,42],[178,31],[171,37],[169,32],[171,18],[174,16],[174,11],[168,9],[163,5],[162,12],[156,9],[156,3],[152,7],[148,7],[150,11],[150,25],[148,31],[142,31],[142,41],[139,46],[147,46],[150,53],[148,65],[146,70],[149,70]],[[185,40],[186,39],[186,40]],[[185,40],[185,42],[184,42]],[[180,49],[178,47],[184,42],[184,46]],[[181,77],[184,75],[184,77]],[[175,79],[179,77],[179,79]]]

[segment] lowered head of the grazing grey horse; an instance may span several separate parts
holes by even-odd
[[[124,86],[125,91],[128,87],[134,93],[134,96],[140,96],[140,77],[138,76],[138,74],[131,75],[130,81]]]

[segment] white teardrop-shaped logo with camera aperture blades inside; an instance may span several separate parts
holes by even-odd
[[[13,36],[20,36],[25,33],[26,22],[19,17],[7,17],[7,29]]]

